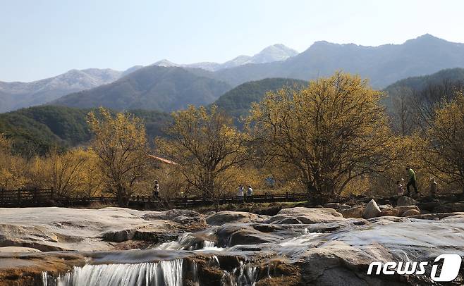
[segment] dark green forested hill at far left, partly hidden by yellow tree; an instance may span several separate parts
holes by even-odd
[[[13,140],[13,151],[23,156],[45,154],[51,147],[68,148],[86,144],[90,138],[85,117],[91,109],[65,106],[35,106],[0,114],[0,132]],[[128,113],[145,120],[149,142],[162,135],[170,122],[168,113],[133,110]]]

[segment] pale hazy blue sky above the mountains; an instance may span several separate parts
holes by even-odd
[[[282,43],[464,42],[464,1],[0,0],[0,80],[168,58],[224,62]]]

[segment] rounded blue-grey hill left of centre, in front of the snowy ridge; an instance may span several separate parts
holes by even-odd
[[[147,66],[109,85],[68,94],[54,105],[78,108],[104,106],[122,111],[143,108],[176,111],[211,104],[232,87],[200,68]]]

